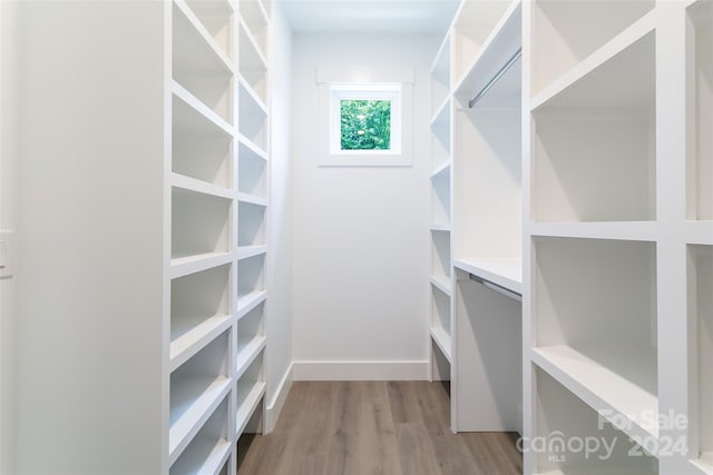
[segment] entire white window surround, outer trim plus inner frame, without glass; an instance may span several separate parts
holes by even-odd
[[[410,167],[414,70],[401,67],[318,68],[318,156],[322,167]],[[400,90],[400,97],[398,91]],[[340,100],[391,100],[389,150],[342,150]]]

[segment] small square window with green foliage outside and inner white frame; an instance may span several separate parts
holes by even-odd
[[[331,85],[330,152],[401,152],[401,85]]]

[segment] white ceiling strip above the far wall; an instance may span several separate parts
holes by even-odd
[[[458,0],[276,0],[295,33],[446,34]]]

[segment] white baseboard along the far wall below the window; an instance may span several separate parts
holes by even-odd
[[[423,362],[293,362],[294,380],[428,380]]]

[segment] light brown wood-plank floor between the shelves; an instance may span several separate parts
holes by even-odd
[[[296,382],[275,429],[238,443],[238,475],[516,475],[517,434],[452,434],[428,382]]]

